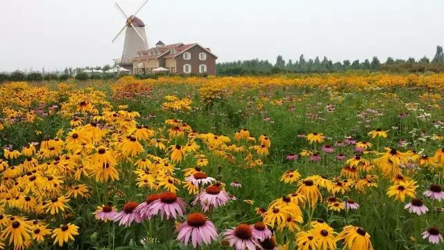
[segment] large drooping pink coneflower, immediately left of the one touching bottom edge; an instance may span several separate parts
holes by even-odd
[[[216,240],[217,231],[214,224],[207,220],[207,217],[201,213],[191,213],[188,215],[187,222],[183,222],[176,228],[175,233],[178,233],[178,241],[187,246],[190,241],[193,247],[203,244],[211,244],[212,240]]]

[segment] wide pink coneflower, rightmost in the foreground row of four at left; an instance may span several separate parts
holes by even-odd
[[[172,192],[164,192],[160,194],[160,199],[153,201],[149,205],[149,216],[158,215],[163,219],[173,217],[176,219],[178,215],[183,215],[185,213],[185,201],[179,198],[176,194]]]

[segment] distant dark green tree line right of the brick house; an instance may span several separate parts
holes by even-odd
[[[300,55],[298,60],[289,59],[287,62],[282,56],[278,56],[276,62],[270,63],[268,60],[238,60],[231,63],[217,63],[217,74],[221,76],[239,75],[264,75],[278,74],[284,72],[291,73],[329,73],[345,72],[350,69],[361,69],[370,72],[397,72],[397,73],[419,73],[419,72],[444,72],[443,47],[437,46],[436,53],[432,60],[423,57],[420,60],[409,58],[407,60],[387,58],[382,63],[376,56],[372,60],[343,60],[343,62],[333,63],[327,57],[321,60],[316,56],[314,59],[306,59]]]

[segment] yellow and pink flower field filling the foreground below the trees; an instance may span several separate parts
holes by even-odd
[[[444,249],[444,74],[0,85],[0,249]]]

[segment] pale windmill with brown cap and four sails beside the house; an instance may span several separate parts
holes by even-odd
[[[126,18],[125,25],[121,28],[119,33],[114,37],[112,42],[116,40],[119,35],[126,29],[125,32],[125,43],[123,44],[122,57],[119,62],[121,67],[127,69],[133,69],[132,59],[137,56],[137,51],[144,51],[148,49],[148,40],[146,39],[145,24],[141,19],[136,17],[145,4],[148,2],[146,0],[140,8],[133,15],[126,15],[126,13],[120,8],[119,4],[116,3],[117,8],[123,13]]]

